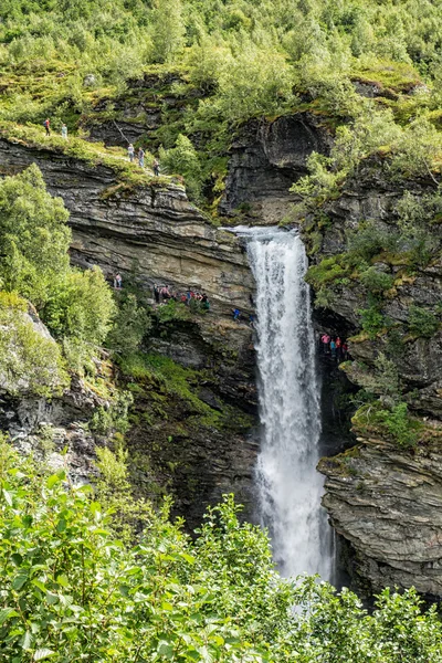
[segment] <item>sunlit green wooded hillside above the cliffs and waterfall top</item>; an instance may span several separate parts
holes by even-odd
[[[36,124],[42,134],[49,116],[56,130],[65,122],[84,137],[96,108],[102,120],[117,117],[113,99],[130,103],[127,83],[150,73],[157,85],[149,104],[164,113],[166,96],[175,95],[181,108],[166,113],[165,126],[139,144],[162,146],[165,170],[183,175],[200,203],[222,190],[235,126],[285,112],[308,109],[332,131],[360,125],[362,116],[365,151],[418,136],[434,144],[428,167],[438,169],[441,4],[6,0],[2,130],[17,135],[17,123]],[[171,84],[161,78],[166,72],[175,75]],[[375,98],[361,97],[358,85],[368,85]]]

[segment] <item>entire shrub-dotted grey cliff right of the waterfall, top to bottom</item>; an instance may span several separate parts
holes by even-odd
[[[364,164],[340,197],[326,206],[328,221],[314,261],[345,253],[348,232],[360,231],[367,222],[385,236],[397,233],[398,202],[406,191],[422,201],[434,193],[434,185],[425,178],[392,182],[381,159]],[[428,235],[433,248],[440,246],[438,223],[428,225]],[[377,273],[389,275],[390,287],[382,295],[370,295],[354,269],[335,282],[330,278],[328,311],[319,309],[319,317],[323,313],[325,327],[330,312],[344,327],[350,324],[352,361],[343,369],[355,385],[379,394],[383,378],[390,383],[398,380],[411,425],[419,432],[414,444],[407,448],[393,424],[386,428],[376,421],[378,406],[361,408],[354,419],[357,446],[319,464],[327,476],[324,505],[346,543],[346,565],[357,587],[369,593],[387,585],[414,585],[438,597],[442,591],[442,330],[436,322],[442,296],[441,252],[433,251],[431,260],[412,265],[407,251],[375,253],[369,264]],[[367,309],[369,302],[376,302],[373,311],[381,316],[380,328],[371,333],[361,330],[361,309]],[[424,309],[435,322],[432,332],[410,327],[413,307]],[[335,333],[339,333],[338,326],[332,327]],[[388,358],[383,370],[391,375],[382,376],[377,364],[380,354]]]

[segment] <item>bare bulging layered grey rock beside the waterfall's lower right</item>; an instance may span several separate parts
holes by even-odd
[[[357,432],[357,429],[356,431]],[[349,543],[346,567],[356,587],[371,594],[387,586],[414,586],[442,594],[442,428],[428,425],[413,453],[380,431],[357,436],[358,446],[323,459],[324,505]]]

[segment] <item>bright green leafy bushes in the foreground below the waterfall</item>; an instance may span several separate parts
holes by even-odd
[[[10,663],[438,663],[441,625],[413,590],[369,615],[355,594],[273,569],[266,535],[232,496],[192,541],[131,501],[123,457],[101,453],[96,502],[0,441],[0,655]],[[118,540],[120,517],[143,532]],[[130,519],[129,519],[130,520]],[[115,528],[116,527],[116,528]],[[138,538],[135,540],[134,537]],[[292,607],[297,606],[294,612]]]

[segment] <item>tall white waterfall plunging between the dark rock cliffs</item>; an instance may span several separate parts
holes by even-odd
[[[333,538],[320,506],[320,386],[315,362],[307,257],[296,231],[235,229],[246,238],[256,282],[261,451],[259,517],[285,577],[332,580]]]

